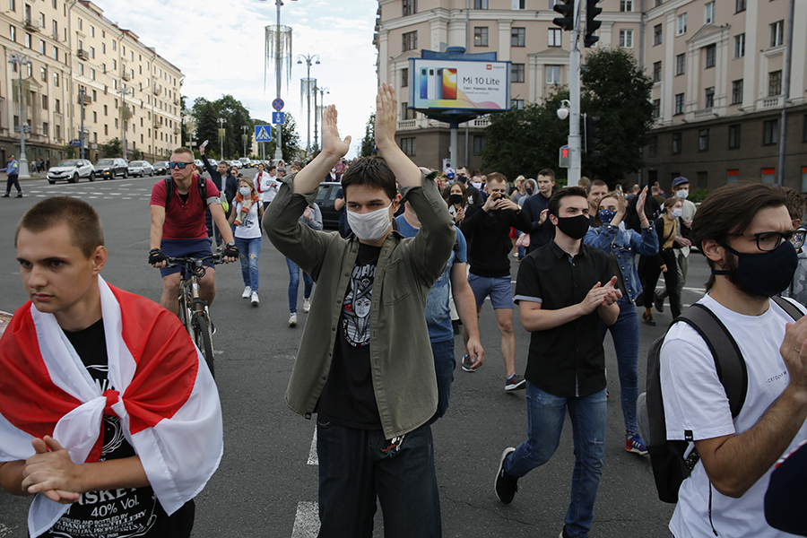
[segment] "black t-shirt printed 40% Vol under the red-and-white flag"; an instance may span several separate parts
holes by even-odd
[[[107,343],[100,319],[81,331],[65,331],[101,392],[109,388]],[[100,461],[134,456],[117,416],[104,415],[104,446]],[[151,487],[88,491],[71,505],[48,532],[48,538],[127,538],[134,536],[190,536],[195,505],[187,501],[168,516]]]

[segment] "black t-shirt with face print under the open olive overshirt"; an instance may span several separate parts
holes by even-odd
[[[317,412],[322,418],[361,430],[380,430],[369,358],[369,318],[381,247],[360,244],[342,303],[334,358]]]

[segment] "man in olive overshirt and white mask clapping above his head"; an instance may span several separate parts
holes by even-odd
[[[349,238],[299,222],[320,180],[350,149],[333,105],[323,117],[322,152],[279,178],[264,217],[273,245],[317,282],[285,398],[307,418],[317,413],[320,536],[372,534],[380,500],[387,538],[437,538],[428,421],[438,389],[425,309],[456,234],[434,174],[421,173],[395,143],[397,101],[386,83],[376,107],[384,159],[355,161],[342,178]],[[392,230],[396,180],[421,222],[411,239]]]

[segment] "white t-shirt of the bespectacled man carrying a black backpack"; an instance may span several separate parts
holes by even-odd
[[[785,324],[793,323],[793,319],[775,302],[770,301],[770,308],[761,316],[738,314],[709,295],[698,302],[716,314],[740,347],[748,368],[748,393],[742,411],[732,420],[728,398],[706,343],[690,325],[673,325],[664,339],[660,359],[664,415],[670,439],[684,439],[684,430],[690,430],[694,440],[739,435],[751,430],[790,379],[779,346],[785,338]],[[804,311],[803,307],[799,308]],[[807,427],[803,424],[785,453],[805,438]],[[690,443],[690,448],[692,446]],[[711,488],[712,524],[721,536],[791,536],[765,521],[763,499],[772,469],[740,499],[733,499],[710,485],[703,462],[699,461],[690,478],[681,483],[678,505],[670,521],[672,534],[675,538],[714,536],[708,512]]]

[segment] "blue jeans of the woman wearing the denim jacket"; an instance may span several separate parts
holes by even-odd
[[[619,300],[620,316],[616,323],[605,325],[600,322],[605,332],[611,329],[613,349],[617,354],[617,364],[620,372],[620,396],[622,401],[622,416],[625,418],[625,435],[633,437],[638,433],[636,423],[636,400],[638,398],[638,317],[636,306],[623,297]]]

